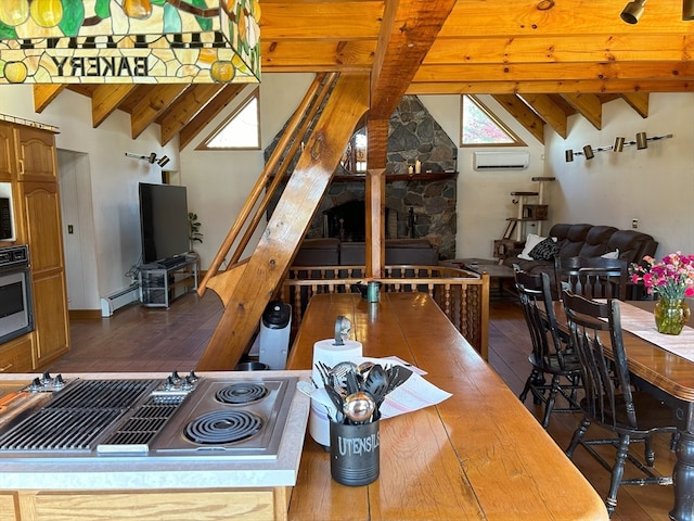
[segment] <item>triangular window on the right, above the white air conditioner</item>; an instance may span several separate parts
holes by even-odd
[[[474,96],[462,97],[461,147],[526,147]]]

